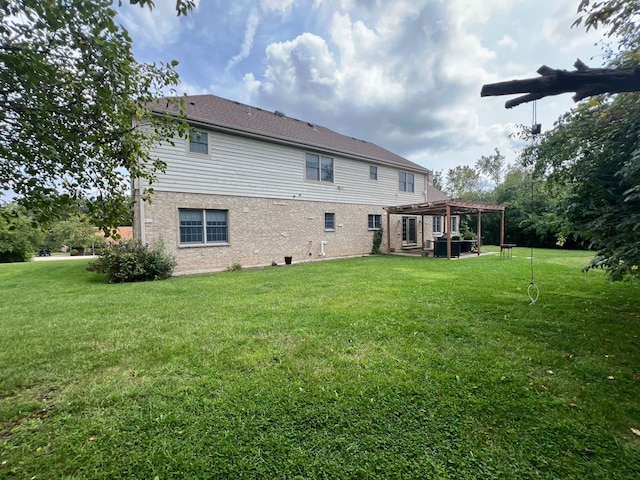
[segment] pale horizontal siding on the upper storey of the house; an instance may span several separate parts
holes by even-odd
[[[333,184],[304,181],[304,150],[219,132],[207,132],[209,157],[185,155],[184,147],[163,143],[152,154],[167,163],[155,191],[231,195],[273,199],[300,198],[365,205],[399,205],[424,201],[425,178],[414,174],[415,192],[398,192],[394,166],[379,165],[378,180],[369,179],[370,164],[333,159]],[[184,145],[184,143],[183,143]]]

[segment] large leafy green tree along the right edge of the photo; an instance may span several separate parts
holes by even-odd
[[[587,28],[606,28],[618,39],[618,49],[608,51],[611,67],[640,65],[640,1],[585,0],[579,11]],[[640,93],[591,97],[523,159],[570,187],[567,217],[598,252],[587,268],[602,267],[613,280],[640,277]]]

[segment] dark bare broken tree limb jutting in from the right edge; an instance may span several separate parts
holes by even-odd
[[[508,100],[506,108],[532,102],[550,95],[575,92],[574,101],[601,93],[640,91],[640,67],[635,68],[589,68],[578,59],[573,72],[543,65],[537,71],[541,76],[524,80],[490,83],[482,86],[481,97],[525,93]]]

